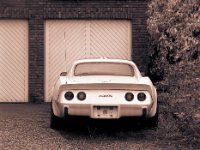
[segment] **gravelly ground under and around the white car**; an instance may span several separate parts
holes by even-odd
[[[164,100],[159,102],[156,130],[130,125],[127,120],[87,120],[53,130],[49,127],[49,104],[0,104],[0,149],[199,149],[199,143],[188,140],[177,128]]]

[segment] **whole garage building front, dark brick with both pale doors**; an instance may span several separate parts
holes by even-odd
[[[0,0],[0,102],[49,101],[62,59],[132,59],[146,72],[146,10],[146,0]]]

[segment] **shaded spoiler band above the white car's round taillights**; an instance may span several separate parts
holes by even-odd
[[[156,93],[150,85],[147,84],[120,84],[120,83],[89,83],[89,84],[65,84],[61,85],[59,92],[66,90],[135,90],[148,91],[153,99]]]

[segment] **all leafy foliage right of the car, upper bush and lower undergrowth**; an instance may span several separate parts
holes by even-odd
[[[151,0],[148,15],[149,76],[163,90],[161,123],[199,145],[200,0]]]

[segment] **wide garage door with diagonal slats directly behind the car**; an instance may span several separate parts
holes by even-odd
[[[58,75],[81,58],[131,59],[131,22],[118,20],[46,21],[45,99]]]

